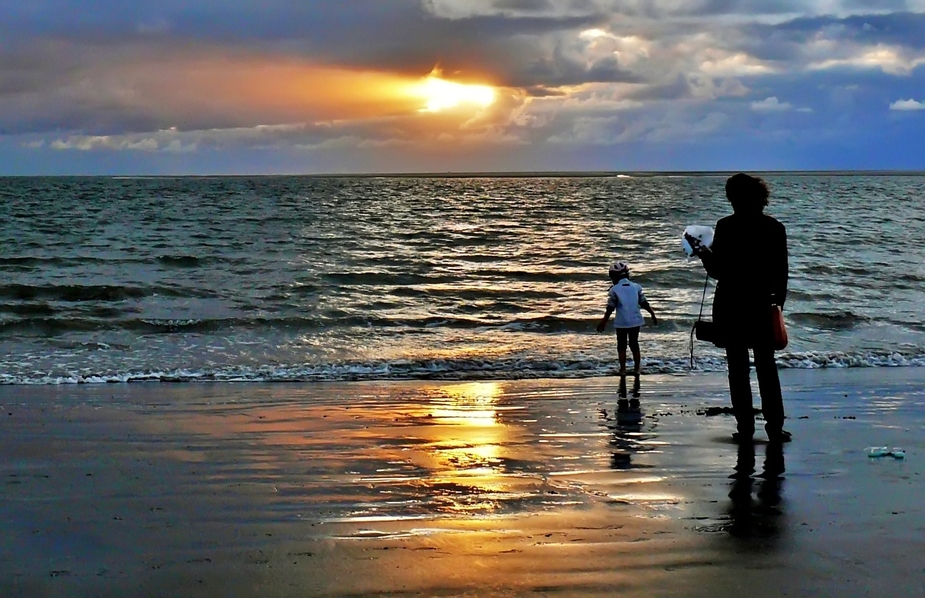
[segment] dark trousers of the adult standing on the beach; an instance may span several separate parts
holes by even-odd
[[[784,427],[784,399],[780,392],[780,378],[777,375],[777,364],[774,362],[774,350],[758,348],[753,351],[765,428],[769,431],[777,431]],[[729,394],[732,397],[732,411],[735,414],[738,431],[741,434],[753,434],[755,415],[752,411],[748,348],[726,347],[726,365],[729,367]]]

